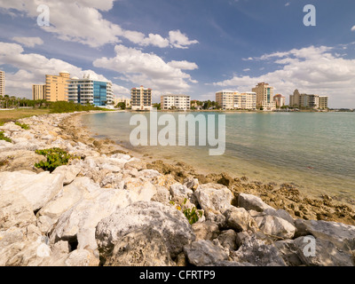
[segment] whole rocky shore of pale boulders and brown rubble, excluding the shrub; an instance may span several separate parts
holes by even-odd
[[[355,212],[91,138],[79,114],[0,126],[0,265],[352,266]],[[38,149],[80,157],[37,169]]]

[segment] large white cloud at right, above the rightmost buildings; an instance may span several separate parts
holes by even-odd
[[[264,54],[260,60],[272,60],[281,67],[273,72],[252,77],[237,76],[213,83],[220,87],[251,90],[256,83],[270,83],[275,91],[288,96],[295,89],[302,92],[329,95],[330,106],[354,104],[353,75],[355,59],[333,55],[334,48],[310,46],[299,50]]]

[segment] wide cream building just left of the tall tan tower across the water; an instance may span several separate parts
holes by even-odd
[[[256,93],[239,91],[217,91],[216,101],[222,109],[256,109]]]

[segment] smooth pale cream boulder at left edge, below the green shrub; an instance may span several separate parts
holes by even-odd
[[[39,174],[27,170],[4,171],[0,173],[0,191],[21,193],[36,211],[59,193],[63,180],[62,175],[51,175],[49,171]]]

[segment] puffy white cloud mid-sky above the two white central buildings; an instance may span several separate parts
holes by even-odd
[[[192,62],[170,61],[166,63],[154,53],[144,53],[122,44],[114,47],[114,58],[96,59],[94,67],[114,70],[122,74],[131,83],[144,85],[156,92],[181,92],[190,88],[190,83],[197,83],[181,68],[196,68]],[[178,66],[178,67],[177,67]]]

